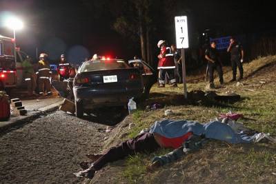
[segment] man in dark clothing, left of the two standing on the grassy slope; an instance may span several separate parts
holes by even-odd
[[[221,62],[219,61],[219,53],[216,49],[215,41],[210,43],[210,48],[205,51],[205,59],[208,61],[209,83],[214,83],[214,70],[217,70],[219,74],[219,82],[224,83],[224,77],[221,68]]]

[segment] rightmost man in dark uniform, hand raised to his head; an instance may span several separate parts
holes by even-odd
[[[242,68],[242,62],[244,61],[244,49],[234,37],[231,37],[227,52],[230,52],[230,59],[233,70],[233,79],[230,81],[236,81],[237,67],[239,68],[239,81],[243,78],[244,75],[244,69]]]

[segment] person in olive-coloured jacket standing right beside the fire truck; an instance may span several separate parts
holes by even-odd
[[[34,68],[31,62],[31,59],[29,56],[26,57],[26,59],[22,63],[23,67],[23,76],[24,76],[24,81],[27,83],[28,87],[28,95],[32,96],[34,93],[34,90],[36,88],[36,81],[35,81],[35,73],[34,73]]]

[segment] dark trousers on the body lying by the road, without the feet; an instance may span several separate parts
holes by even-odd
[[[95,170],[100,170],[106,163],[124,159],[124,157],[135,154],[135,152],[152,152],[159,147],[153,134],[146,132],[133,139],[124,141],[116,147],[111,147],[103,156],[93,163],[93,168]]]

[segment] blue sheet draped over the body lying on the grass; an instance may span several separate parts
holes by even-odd
[[[186,120],[163,120],[155,121],[155,124],[150,127],[150,133],[158,133],[168,138],[183,136],[188,132],[193,132],[198,136],[204,135],[208,139],[217,139],[228,143],[252,143],[253,138],[245,134],[235,133],[226,123],[213,121],[206,124],[201,124],[196,121]]]

